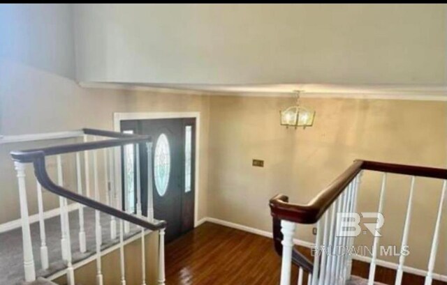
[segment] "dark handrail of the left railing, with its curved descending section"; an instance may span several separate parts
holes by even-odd
[[[94,208],[95,210],[99,210],[103,213],[107,213],[119,219],[124,219],[127,222],[137,224],[138,226],[142,226],[145,229],[156,231],[166,228],[165,221],[149,222],[146,219],[140,219],[135,215],[125,213],[122,210],[112,208],[93,199],[84,197],[78,193],[66,190],[64,187],[57,185],[51,180],[50,176],[48,176],[45,164],[45,156],[47,155],[73,153],[77,151],[89,151],[93,149],[108,148],[112,146],[124,146],[126,144],[149,143],[151,141],[151,138],[149,136],[142,136],[138,134],[122,134],[119,132],[109,132],[93,129],[83,129],[83,131],[85,134],[97,135],[102,137],[112,137],[115,139],[83,142],[79,144],[66,144],[62,146],[50,146],[47,148],[32,149],[28,151],[13,151],[11,152],[11,156],[13,157],[13,160],[15,160],[15,162],[32,162],[34,165],[34,174],[36,175],[38,182],[42,185],[42,187],[54,194],[81,203],[82,205]]]

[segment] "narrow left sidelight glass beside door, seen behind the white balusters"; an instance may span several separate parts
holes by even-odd
[[[133,134],[133,130],[124,130],[124,134]],[[135,146],[124,146],[124,191],[126,193],[126,211],[135,212]]]

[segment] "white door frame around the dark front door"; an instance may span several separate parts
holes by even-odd
[[[121,132],[121,122],[129,120],[152,120],[160,118],[195,118],[196,119],[196,151],[194,160],[196,167],[194,167],[194,227],[198,226],[198,196],[200,185],[200,111],[172,111],[172,112],[131,112],[131,113],[113,113],[113,129],[115,132]],[[121,161],[115,158],[115,165],[120,165]],[[115,167],[115,177],[120,177],[121,167]],[[116,183],[121,183],[116,181]],[[117,184],[121,185],[121,184]]]

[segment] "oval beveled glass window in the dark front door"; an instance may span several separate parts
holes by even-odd
[[[154,180],[156,192],[160,196],[168,190],[170,175],[170,146],[166,134],[160,134],[154,151]]]

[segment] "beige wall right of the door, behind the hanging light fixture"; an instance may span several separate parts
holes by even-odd
[[[210,107],[209,215],[271,231],[268,200],[284,193],[307,203],[356,158],[446,167],[447,105],[405,100],[303,99],[316,110],[306,130],[279,125],[286,98],[213,97]],[[251,160],[265,167],[251,167]],[[380,175],[365,173],[359,210],[376,211]],[[384,215],[383,245],[400,245],[409,194],[409,178],[390,176]],[[434,229],[441,182],[418,179],[411,219],[407,265],[425,269]],[[447,213],[441,240],[447,238]],[[311,226],[298,237],[312,241]],[[359,245],[371,245],[369,236]],[[446,271],[441,242],[438,272]],[[391,259],[397,261],[397,259]]]

